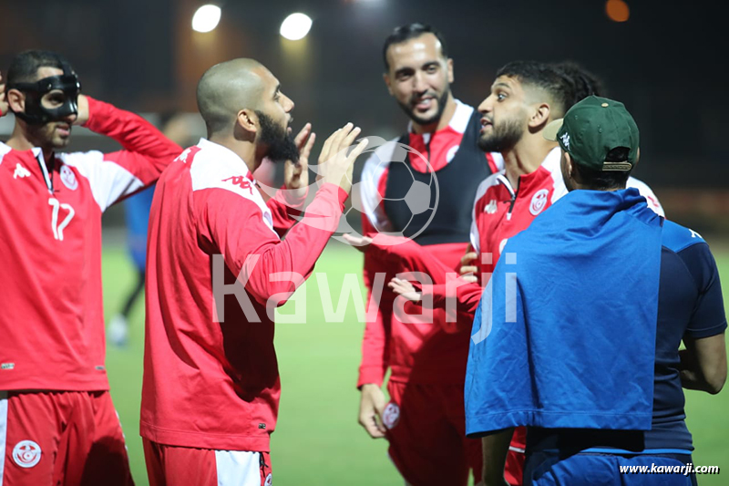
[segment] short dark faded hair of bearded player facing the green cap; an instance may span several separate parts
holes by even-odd
[[[496,77],[500,76],[517,78],[521,84],[544,89],[557,104],[552,108],[562,115],[570,108],[568,104],[574,98],[570,81],[554,65],[548,63],[513,61],[498,69]]]

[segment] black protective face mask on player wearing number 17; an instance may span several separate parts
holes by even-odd
[[[64,66],[63,74],[39,79],[35,83],[14,83],[7,89],[17,89],[26,95],[26,111],[14,112],[15,116],[30,125],[45,125],[49,121],[60,121],[69,115],[78,114],[78,93],[81,83],[70,67]],[[55,89],[63,91],[66,100],[55,109],[43,106],[43,97]]]

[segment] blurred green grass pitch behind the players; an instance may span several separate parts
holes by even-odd
[[[724,301],[729,303],[729,252],[716,254],[724,280]],[[331,244],[316,265],[326,274],[336,294],[344,274],[360,274],[362,258],[339,243]],[[103,256],[106,314],[120,309],[133,285],[134,274],[123,250],[107,249]],[[305,290],[303,290],[305,289]],[[276,348],[282,379],[282,401],[276,432],[272,435],[275,484],[377,486],[401,485],[403,481],[386,455],[384,439],[369,439],[357,424],[359,392],[354,388],[360,359],[364,324],[357,322],[354,305],[347,306],[342,323],[325,322],[319,284],[309,280],[300,289],[306,293],[306,324],[278,324]],[[336,307],[336,296],[333,298]],[[282,314],[291,315],[293,303]],[[144,305],[140,301],[131,315],[131,338],[124,349],[108,347],[107,368],[111,394],[118,408],[137,484],[147,484],[141,439],[139,400],[144,347]],[[174,377],[170,377],[174,379]],[[686,392],[686,413],[693,432],[696,465],[729,467],[729,391],[718,396]],[[218,413],[210,410],[210,413]],[[726,470],[719,476],[700,476],[703,485],[726,483]]]

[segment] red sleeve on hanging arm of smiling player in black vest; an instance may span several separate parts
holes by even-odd
[[[363,233],[374,233],[375,227],[363,213]],[[385,273],[384,284],[387,284],[389,273],[388,264],[382,258],[382,253],[364,253],[364,285],[367,287],[367,302],[372,298],[372,283],[375,281],[375,274]],[[357,388],[367,383],[375,383],[381,386],[385,379],[388,358],[390,357],[390,330],[392,326],[393,303],[395,295],[392,292],[381,293],[382,297],[377,305],[375,319],[366,318],[364,326],[364,338],[362,340],[362,362],[359,366],[359,378]]]

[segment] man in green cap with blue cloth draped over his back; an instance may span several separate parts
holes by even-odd
[[[484,483],[505,484],[511,430],[527,426],[524,484],[695,484],[682,386],[726,378],[714,258],[625,189],[639,132],[621,103],[585,98],[544,131],[570,193],[508,241],[468,356]]]

